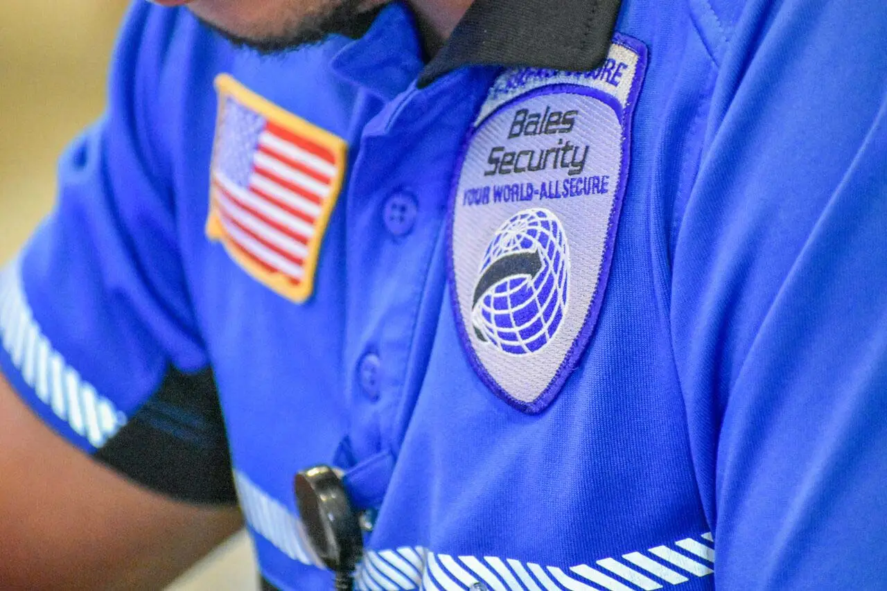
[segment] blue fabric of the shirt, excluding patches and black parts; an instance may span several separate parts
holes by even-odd
[[[358,588],[883,588],[887,5],[624,1],[648,66],[606,293],[535,415],[475,373],[447,287],[454,167],[500,71],[417,89],[416,30],[390,4],[262,58],[134,4],[107,113],[0,275],[22,398],[93,452],[167,367],[211,366],[280,588],[330,588],[292,479],[333,461],[377,505]],[[348,144],[305,303],[205,233],[220,74]]]

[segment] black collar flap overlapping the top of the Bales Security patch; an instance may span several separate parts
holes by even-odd
[[[420,76],[427,86],[462,66],[585,72],[607,58],[621,0],[475,0]]]

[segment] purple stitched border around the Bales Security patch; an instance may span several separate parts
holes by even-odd
[[[597,284],[594,288],[594,295],[592,296],[592,301],[589,304],[588,311],[585,313],[585,320],[583,321],[582,328],[579,330],[579,334],[576,336],[576,338],[573,339],[573,343],[570,345],[569,350],[567,351],[567,355],[564,356],[563,361],[561,361],[561,366],[558,367],[557,372],[554,373],[551,382],[548,382],[545,390],[542,390],[539,396],[532,402],[524,402],[522,400],[514,398],[492,377],[492,375],[483,366],[483,363],[481,363],[481,360],[478,359],[475,348],[471,345],[471,339],[467,333],[465,321],[464,319],[462,319],[462,313],[459,308],[459,294],[456,291],[456,264],[453,257],[452,246],[453,225],[456,219],[456,198],[458,197],[456,192],[459,189],[459,178],[462,174],[462,166],[465,163],[465,158],[468,153],[468,147],[471,146],[471,141],[475,138],[478,130],[483,127],[483,124],[485,122],[490,121],[491,117],[497,114],[499,110],[506,108],[506,106],[511,106],[514,101],[525,100],[527,98],[538,96],[540,94],[550,94],[554,90],[553,87],[557,87],[556,90],[558,91],[569,89],[569,92],[573,92],[574,94],[593,96],[594,98],[598,98],[599,100],[600,96],[598,96],[597,93],[592,94],[590,92],[592,89],[589,89],[587,86],[583,86],[581,84],[553,83],[523,93],[515,98],[512,98],[511,100],[506,101],[502,105],[498,106],[495,110],[493,110],[491,114],[488,114],[482,122],[480,122],[467,134],[465,142],[462,145],[461,154],[459,154],[459,159],[456,164],[456,173],[454,174],[452,180],[450,191],[451,198],[447,211],[447,284],[450,288],[450,302],[452,305],[453,315],[455,316],[456,320],[456,329],[459,332],[459,340],[462,343],[462,349],[464,349],[466,352],[468,362],[475,369],[475,374],[477,374],[483,384],[486,385],[487,388],[489,388],[494,394],[496,394],[498,398],[501,398],[510,406],[513,406],[515,409],[525,414],[541,413],[542,411],[546,410],[548,406],[551,406],[554,398],[557,398],[558,394],[561,393],[561,389],[563,388],[564,384],[567,382],[569,376],[573,373],[573,370],[576,369],[580,359],[585,354],[585,349],[588,346],[588,343],[591,342],[594,327],[597,326],[597,319],[600,315],[600,307],[603,303],[604,293],[607,290],[607,281],[609,278],[610,266],[613,262],[613,250],[616,247],[616,230],[618,229],[619,217],[622,213],[622,203],[624,200],[625,188],[628,185],[628,172],[632,160],[632,120],[634,116],[634,109],[635,106],[637,106],[638,97],[640,95],[640,88],[643,85],[644,75],[646,75],[647,73],[648,63],[647,45],[641,43],[639,40],[628,35],[615,33],[613,35],[613,43],[617,45],[622,45],[626,49],[636,53],[638,56],[638,67],[635,69],[634,72],[634,79],[632,80],[632,90],[629,92],[628,98],[625,102],[625,108],[622,109],[620,106],[619,109],[616,109],[616,115],[619,117],[620,122],[622,123],[622,164],[619,169],[619,185],[616,187],[616,196],[613,200],[613,208],[610,209],[604,257],[600,263],[600,272],[598,273]],[[612,98],[606,94],[604,94],[604,96]],[[602,102],[605,102],[609,106],[612,106],[612,103],[609,100],[602,100]]]

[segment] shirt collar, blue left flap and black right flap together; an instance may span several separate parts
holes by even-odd
[[[402,2],[335,55],[343,77],[382,98],[416,80],[428,86],[463,66],[546,67],[585,72],[607,58],[622,0],[475,0],[450,39],[422,67],[418,28]]]

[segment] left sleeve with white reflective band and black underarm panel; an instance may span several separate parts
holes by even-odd
[[[182,15],[133,4],[106,114],[61,157],[55,209],[0,274],[0,367],[83,451],[163,493],[221,502],[230,459],[157,107]]]

